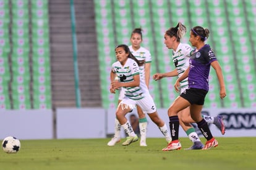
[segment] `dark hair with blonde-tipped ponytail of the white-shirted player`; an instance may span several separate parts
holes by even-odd
[[[182,36],[185,35],[187,28],[181,22],[176,27],[169,28],[165,33],[170,37],[175,36],[177,41],[181,41]]]

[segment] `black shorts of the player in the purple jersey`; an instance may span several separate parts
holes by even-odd
[[[205,103],[205,96],[208,91],[199,88],[188,88],[181,93],[181,97],[189,101],[190,104],[203,105]]]

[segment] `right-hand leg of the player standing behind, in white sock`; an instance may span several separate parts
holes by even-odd
[[[143,113],[140,106],[137,105],[137,112],[139,115],[139,127],[140,127],[140,146],[147,147],[146,138],[147,138],[147,126],[148,121],[145,113]]]

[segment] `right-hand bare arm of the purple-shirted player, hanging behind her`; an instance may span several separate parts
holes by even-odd
[[[224,98],[226,96],[226,88],[224,83],[224,78],[222,74],[222,69],[218,61],[211,62],[211,67],[215,69],[216,75],[218,77],[219,83],[220,83],[220,98]]]

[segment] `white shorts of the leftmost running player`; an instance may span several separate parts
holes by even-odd
[[[156,112],[156,104],[150,94],[145,94],[145,97],[140,100],[132,100],[125,96],[120,104],[127,104],[130,109],[134,109],[136,105],[140,106],[143,113],[150,114]]]

